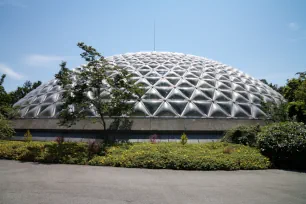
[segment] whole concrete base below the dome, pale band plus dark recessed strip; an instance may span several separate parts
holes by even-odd
[[[157,142],[178,142],[185,132],[190,143],[219,140],[224,131],[238,125],[262,125],[262,120],[239,119],[181,119],[181,118],[132,118],[133,124],[128,130],[103,131],[100,123],[92,119],[79,121],[67,128],[59,126],[57,119],[17,119],[13,121],[16,130],[15,140],[23,140],[26,130],[30,130],[33,140],[55,140],[58,136],[70,141],[108,139],[117,141],[146,142],[157,134]],[[107,126],[112,120],[107,119]]]

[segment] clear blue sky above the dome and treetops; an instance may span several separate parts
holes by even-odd
[[[207,57],[283,85],[306,70],[304,0],[0,0],[5,88],[43,82],[61,60],[83,61],[76,43],[104,56],[153,50]]]

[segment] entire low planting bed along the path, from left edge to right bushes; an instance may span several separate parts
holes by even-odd
[[[104,156],[98,156],[99,151],[96,145],[82,142],[59,145],[57,142],[0,141],[0,159],[20,161],[188,170],[266,169],[270,166],[269,160],[257,149],[222,142],[184,147],[178,143],[122,143],[108,146]]]

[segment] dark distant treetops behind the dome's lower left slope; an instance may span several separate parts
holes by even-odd
[[[11,97],[11,104],[15,104],[17,101],[25,97],[28,93],[30,93],[32,90],[36,89],[38,86],[41,85],[41,81],[37,82],[30,82],[26,81],[22,87],[17,87],[17,90],[12,91],[9,93]]]

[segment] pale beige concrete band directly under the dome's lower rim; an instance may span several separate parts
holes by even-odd
[[[103,130],[99,123],[92,123],[94,119],[86,119],[67,128],[58,125],[58,119],[16,119],[13,120],[15,129],[36,130]],[[212,118],[131,118],[130,130],[135,131],[225,131],[238,125],[263,125],[262,120],[241,119],[212,119]],[[111,119],[106,119],[109,127]]]

